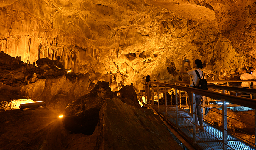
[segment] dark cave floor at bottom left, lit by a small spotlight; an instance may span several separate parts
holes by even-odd
[[[58,114],[43,107],[0,109],[0,116],[1,150],[94,149],[96,145],[97,127],[90,136],[71,134]]]

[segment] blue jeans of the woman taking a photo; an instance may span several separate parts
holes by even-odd
[[[193,87],[193,86],[191,86]],[[189,104],[193,104],[193,94],[188,92],[188,99],[190,101]],[[198,95],[198,94],[195,94],[195,101],[196,101],[196,108],[194,108],[194,112],[196,115],[196,125],[199,125],[199,124],[204,124],[204,120],[203,120],[203,115],[202,115],[202,111],[201,111],[201,102],[202,100],[202,96],[201,95]],[[192,105],[190,105],[191,108],[192,108]]]

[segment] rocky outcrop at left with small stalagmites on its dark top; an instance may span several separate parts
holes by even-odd
[[[71,101],[89,93],[95,85],[90,82],[89,74],[68,73],[65,68],[58,68],[60,61],[40,59],[36,67],[20,63],[17,58],[0,53],[1,95],[27,96],[63,112]]]

